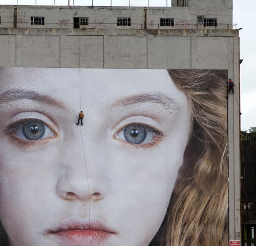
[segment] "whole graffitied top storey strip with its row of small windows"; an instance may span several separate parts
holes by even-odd
[[[218,13],[218,14],[216,14]],[[232,29],[232,10],[189,7],[1,6],[0,28]]]

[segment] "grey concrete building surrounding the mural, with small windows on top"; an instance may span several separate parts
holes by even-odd
[[[239,95],[232,0],[174,7],[0,6],[0,66],[227,69]],[[228,100],[229,237],[240,240],[240,105]]]

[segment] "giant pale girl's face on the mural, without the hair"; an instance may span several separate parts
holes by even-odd
[[[10,245],[150,243],[191,124],[167,71],[2,68],[0,93]]]

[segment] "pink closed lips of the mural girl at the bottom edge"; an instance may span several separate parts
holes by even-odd
[[[65,245],[97,245],[117,233],[100,221],[81,222],[72,220],[48,231],[58,242]]]

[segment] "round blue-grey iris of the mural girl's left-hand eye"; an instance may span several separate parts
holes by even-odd
[[[24,136],[29,140],[41,139],[45,134],[45,126],[40,121],[32,120],[23,125]]]

